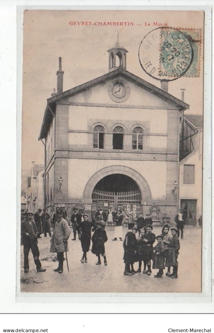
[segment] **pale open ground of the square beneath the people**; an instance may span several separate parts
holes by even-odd
[[[164,275],[155,279],[157,270],[152,275],[137,273],[124,276],[123,242],[112,241],[114,227],[106,227],[108,241],[105,245],[108,266],[96,266],[97,257],[88,252],[88,263],[80,263],[82,249],[79,240],[69,239],[68,262],[70,273],[67,272],[66,261],[62,274],[53,272],[58,267],[56,254],[50,253],[50,237],[38,239],[42,266],[45,273],[37,273],[32,253],[29,255],[30,270],[24,273],[23,246],[21,247],[21,291],[23,292],[200,292],[201,291],[201,229],[186,227],[184,239],[180,239],[178,256],[178,278],[171,279]],[[123,228],[124,235],[127,227]],[[158,235],[161,227],[154,227]],[[137,270],[138,263],[134,264]]]

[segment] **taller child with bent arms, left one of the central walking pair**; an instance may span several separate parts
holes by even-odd
[[[88,220],[88,214],[83,214],[83,219],[84,221],[80,222],[76,228],[77,231],[80,231],[81,234],[80,241],[83,252],[82,259],[80,260],[81,263],[84,263],[84,259],[85,262],[88,262],[86,253],[89,251],[91,243],[91,229],[95,227],[95,224]]]

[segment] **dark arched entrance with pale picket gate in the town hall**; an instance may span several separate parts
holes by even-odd
[[[141,212],[141,200],[141,191],[136,181],[127,175],[114,173],[102,178],[94,187],[92,212],[96,212],[98,206],[102,205],[104,210],[109,207],[124,212],[131,209],[138,215]]]

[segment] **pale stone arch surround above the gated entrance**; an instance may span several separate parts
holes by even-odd
[[[144,201],[151,200],[152,199],[152,193],[150,190],[150,187],[147,183],[147,181],[144,179],[144,177],[134,169],[128,167],[128,166],[107,166],[103,169],[95,172],[93,176],[88,180],[87,184],[85,185],[85,189],[83,192],[83,198],[91,198],[92,191],[95,187],[95,185],[98,183],[98,181],[105,176],[108,176],[113,173],[121,173],[129,176],[133,180],[136,181],[138,187],[140,188],[141,195]]]

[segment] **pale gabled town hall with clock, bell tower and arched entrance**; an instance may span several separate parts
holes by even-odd
[[[189,105],[127,70],[128,51],[108,50],[108,73],[47,100],[40,139],[45,143],[45,206],[78,203],[94,214],[121,208],[157,221],[177,213],[179,121]]]

